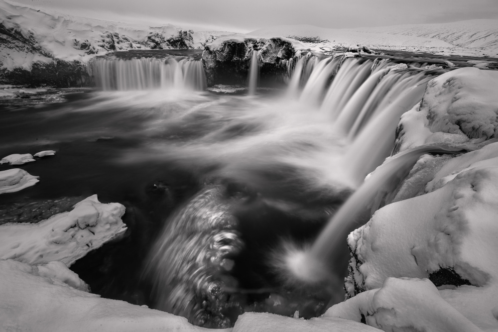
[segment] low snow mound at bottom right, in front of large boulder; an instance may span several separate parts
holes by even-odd
[[[360,321],[361,315],[368,325],[383,331],[482,332],[428,279],[386,278],[382,288],[337,304],[324,317]]]

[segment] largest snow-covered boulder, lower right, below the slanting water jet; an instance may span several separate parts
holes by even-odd
[[[388,277],[429,278],[441,286],[439,295],[451,307],[479,328],[496,331],[498,143],[449,160],[425,190],[425,195],[383,207],[349,235],[349,296],[385,287]],[[409,310],[412,299],[426,292],[428,282],[413,282],[407,295],[396,298],[395,311]],[[444,315],[438,311],[441,303],[423,302],[411,321],[426,322],[425,328],[432,329],[433,318],[436,323],[445,320],[439,316]],[[432,312],[438,314],[433,317]],[[401,314],[395,316],[393,322],[402,322]]]

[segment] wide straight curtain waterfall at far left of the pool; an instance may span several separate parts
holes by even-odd
[[[91,62],[94,75],[102,90],[206,89],[206,75],[200,60],[185,57],[166,58],[97,58]]]

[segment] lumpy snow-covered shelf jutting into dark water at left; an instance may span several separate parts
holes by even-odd
[[[45,221],[0,225],[0,258],[29,264],[57,260],[70,266],[123,234],[123,214],[123,205],[102,204],[93,195],[76,204],[72,211]]]

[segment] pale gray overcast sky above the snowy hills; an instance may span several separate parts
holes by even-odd
[[[281,24],[328,28],[498,19],[498,0],[17,0],[72,14],[116,20],[117,14],[152,25],[249,32]]]

